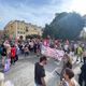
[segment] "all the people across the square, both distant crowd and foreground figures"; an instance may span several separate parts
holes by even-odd
[[[81,68],[78,84],[80,86],[83,86],[82,82],[84,82],[84,86],[86,86],[86,44],[84,42],[69,42],[68,40],[63,42],[49,39],[29,39],[28,41],[24,41],[20,43],[11,43],[9,41],[5,41],[0,46],[0,55],[2,58],[3,68],[5,69],[5,63],[8,62],[8,60],[10,67],[15,64],[15,62],[18,60],[19,55],[24,55],[24,57],[27,57],[29,55],[41,56],[42,45],[48,46],[51,48],[61,49],[64,52],[62,58],[63,67],[60,73],[61,86],[76,86],[72,80],[74,77],[74,72],[72,71],[72,60],[74,56],[76,56],[75,61],[84,63]],[[34,82],[37,86],[46,86],[44,81],[44,64],[46,64],[46,60],[47,58],[43,56],[40,58],[40,62],[35,63]]]

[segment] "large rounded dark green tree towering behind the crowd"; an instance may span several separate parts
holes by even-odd
[[[49,25],[46,25],[43,38],[49,34],[52,38],[75,40],[78,38],[84,27],[82,16],[75,12],[56,14]]]

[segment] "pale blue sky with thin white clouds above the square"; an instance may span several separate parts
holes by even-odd
[[[10,20],[25,20],[44,27],[56,13],[86,14],[86,0],[0,0],[0,29]]]

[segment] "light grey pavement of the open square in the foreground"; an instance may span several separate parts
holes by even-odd
[[[37,61],[39,61],[39,57],[34,55],[28,57],[19,56],[19,60],[11,67],[10,71],[4,73],[5,81],[11,81],[14,86],[34,86],[34,63]],[[80,62],[73,62],[73,71],[76,81],[78,78],[81,66],[82,63]],[[58,86],[60,77],[55,71],[60,73],[61,69],[61,62],[48,58],[48,62],[45,66],[45,81],[47,86]]]

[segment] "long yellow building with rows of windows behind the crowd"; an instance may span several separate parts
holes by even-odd
[[[12,38],[12,39],[19,39],[23,37],[25,40],[26,35],[31,34],[38,34],[42,35],[42,28],[38,27],[35,25],[31,25],[28,23],[25,23],[24,20],[11,20],[5,27],[4,27],[5,33]]]

